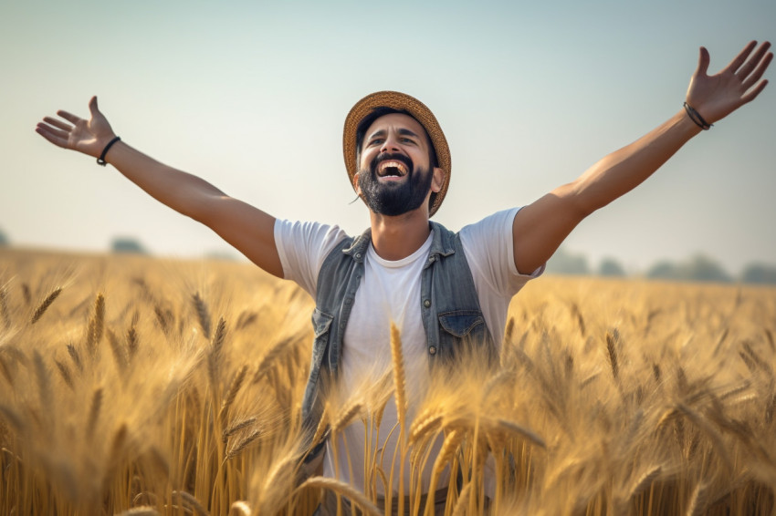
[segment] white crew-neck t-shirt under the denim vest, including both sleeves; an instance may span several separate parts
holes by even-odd
[[[518,209],[497,212],[480,222],[467,225],[461,232],[461,243],[477,289],[477,299],[485,322],[497,346],[500,346],[507,323],[509,301],[530,279],[543,272],[543,266],[534,273],[520,274],[515,266],[512,247],[512,222]],[[338,226],[317,222],[279,221],[275,224],[275,243],[278,248],[283,274],[315,297],[320,266],[330,251],[347,235]],[[379,377],[391,366],[390,328],[393,322],[402,337],[407,393],[410,406],[416,405],[413,393],[422,396],[427,379],[427,352],[425,330],[421,319],[421,273],[431,248],[433,234],[413,254],[395,262],[383,260],[370,245],[364,260],[364,277],[356,291],[351,316],[342,344],[340,379],[345,392],[357,392],[364,382]],[[389,400],[383,415],[379,436],[384,440],[397,420],[396,407]],[[324,475],[339,478],[363,488],[363,449],[365,432],[360,420],[342,432],[347,440],[337,443],[339,474],[335,471],[331,443],[327,443]],[[393,449],[398,430],[384,445],[383,471],[391,470]],[[350,456],[351,468],[348,467]],[[433,460],[430,461],[433,464]],[[409,471],[409,464],[405,466]],[[424,474],[428,485],[431,468]],[[398,465],[394,468],[398,485]],[[407,477],[409,475],[406,475]],[[405,480],[409,489],[409,479]],[[382,487],[378,482],[378,491]]]

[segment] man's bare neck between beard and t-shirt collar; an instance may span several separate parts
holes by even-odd
[[[383,260],[394,262],[406,258],[420,249],[431,232],[426,210],[415,210],[398,217],[372,212],[370,218],[372,246]]]

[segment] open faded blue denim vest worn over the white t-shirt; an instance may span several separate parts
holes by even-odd
[[[460,235],[436,222],[431,250],[421,275],[420,304],[429,362],[451,358],[465,341],[493,346],[493,338],[479,307],[471,270]],[[347,238],[327,256],[318,273],[312,326],[315,340],[309,379],[302,401],[302,421],[309,432],[318,425],[323,409],[321,377],[336,377],[341,363],[342,339],[356,291],[362,283],[363,260],[372,243],[372,230]],[[319,449],[311,455],[316,455]]]

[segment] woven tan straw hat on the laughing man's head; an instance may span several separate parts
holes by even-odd
[[[436,152],[436,161],[440,169],[445,170],[445,182],[442,190],[432,193],[428,216],[434,215],[442,204],[450,184],[450,149],[439,122],[436,121],[431,109],[426,108],[423,102],[398,91],[378,91],[362,98],[351,108],[351,112],[345,118],[345,129],[342,133],[342,151],[345,157],[345,167],[353,184],[353,176],[359,170],[356,162],[356,129],[364,117],[370,115],[375,108],[403,109],[414,117],[423,126],[431,144]]]

